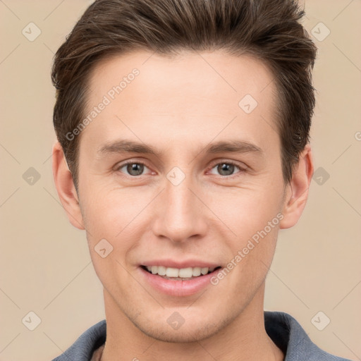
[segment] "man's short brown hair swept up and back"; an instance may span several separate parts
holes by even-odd
[[[278,90],[277,127],[283,179],[309,141],[317,49],[300,24],[296,0],[97,0],[56,52],[54,128],[78,190],[80,135],[66,136],[85,117],[90,72],[107,56],[145,49],[163,55],[224,50],[269,66]]]

